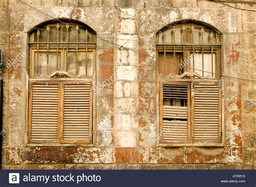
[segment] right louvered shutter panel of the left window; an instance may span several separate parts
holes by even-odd
[[[63,87],[63,141],[91,143],[91,82],[65,83]]]

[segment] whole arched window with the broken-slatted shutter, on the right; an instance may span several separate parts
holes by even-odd
[[[163,146],[221,146],[220,32],[193,22],[157,33]]]

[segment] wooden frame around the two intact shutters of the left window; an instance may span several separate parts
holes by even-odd
[[[35,141],[31,142],[31,116],[32,116],[32,85],[33,84],[58,84],[58,121],[57,121],[57,137],[56,142],[55,141]],[[63,139],[63,124],[64,124],[64,110],[63,110],[63,85],[65,84],[84,84],[89,83],[90,84],[90,107],[89,107],[89,142],[86,141],[65,141]],[[95,146],[95,138],[96,138],[96,131],[94,123],[93,123],[93,90],[92,90],[92,81],[90,79],[73,79],[70,80],[68,78],[62,79],[57,78],[56,80],[52,79],[31,79],[29,81],[29,112],[28,112],[28,143],[27,146],[29,147],[70,147],[70,146],[85,146],[85,147],[93,147]],[[60,114],[60,115],[59,115]]]

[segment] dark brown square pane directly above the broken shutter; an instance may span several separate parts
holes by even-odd
[[[159,59],[164,59],[164,53],[160,52],[158,53],[158,58]],[[183,54],[182,53],[175,53],[175,64],[174,64],[174,54],[173,53],[166,53],[165,54],[165,60],[168,61],[166,62],[166,69],[165,69],[165,75],[168,75],[170,73],[180,75],[183,73],[183,68],[184,66],[181,63],[181,60],[183,60]],[[159,60],[158,64],[158,70],[159,73],[162,73],[164,75],[164,60]],[[180,65],[176,65],[180,64]]]

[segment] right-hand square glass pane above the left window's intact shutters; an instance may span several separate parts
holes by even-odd
[[[78,72],[76,71],[76,61],[78,63]],[[80,77],[92,77],[93,74],[93,53],[88,52],[87,76],[86,76],[86,52],[69,52],[66,62],[66,70],[71,75],[80,75]]]

